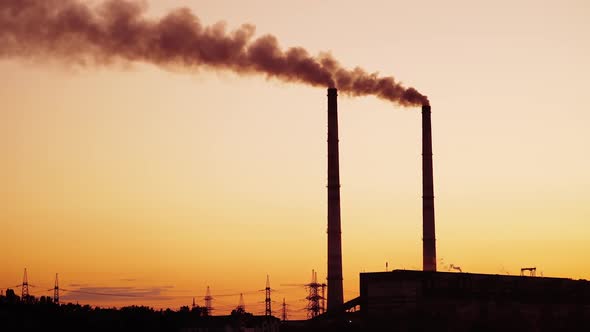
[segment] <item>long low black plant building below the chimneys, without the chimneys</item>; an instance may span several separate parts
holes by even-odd
[[[360,293],[362,322],[371,331],[590,328],[586,280],[394,270],[361,273]]]

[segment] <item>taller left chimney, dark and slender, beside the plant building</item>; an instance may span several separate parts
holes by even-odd
[[[328,89],[328,312],[344,303],[338,161],[338,90]]]

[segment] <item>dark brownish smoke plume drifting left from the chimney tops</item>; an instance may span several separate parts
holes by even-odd
[[[144,61],[161,66],[207,67],[266,74],[287,82],[375,95],[403,106],[428,104],[426,96],[393,77],[343,68],[329,55],[301,47],[283,50],[272,35],[254,39],[254,26],[227,32],[203,26],[189,9],[154,20],[144,2],[108,0],[0,0],[0,58],[56,58],[76,64]]]

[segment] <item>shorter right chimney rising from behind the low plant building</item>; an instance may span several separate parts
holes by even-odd
[[[422,105],[422,232],[423,270],[436,271],[430,105]]]

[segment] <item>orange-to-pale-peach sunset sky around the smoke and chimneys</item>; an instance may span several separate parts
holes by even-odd
[[[330,51],[432,103],[439,270],[590,279],[590,3],[150,0]],[[0,287],[303,317],[326,277],[326,91],[145,63],[0,59]],[[420,112],[339,97],[345,300],[421,268]],[[20,290],[18,291],[20,292]],[[64,293],[65,294],[68,293]],[[222,296],[225,295],[225,296]]]

